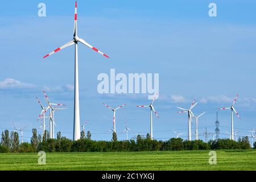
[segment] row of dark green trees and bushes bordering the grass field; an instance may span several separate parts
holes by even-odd
[[[171,138],[167,141],[151,140],[147,134],[146,139],[140,135],[135,140],[118,141],[117,134],[113,133],[112,141],[96,141],[90,139],[88,131],[86,137],[84,131],[81,139],[73,142],[71,139],[61,137],[57,133],[56,139],[49,138],[46,131],[43,137],[32,129],[30,143],[19,144],[19,135],[12,131],[5,130],[2,133],[0,152],[117,152],[117,151],[174,151],[174,150],[228,150],[228,149],[250,149],[248,137],[240,138],[238,142],[230,139],[210,140],[208,143],[203,140],[183,140]],[[254,143],[256,148],[256,142]]]

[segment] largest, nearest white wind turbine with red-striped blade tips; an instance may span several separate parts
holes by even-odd
[[[43,58],[48,57],[49,55],[52,55],[53,53],[60,51],[61,49],[64,49],[68,46],[72,46],[75,44],[75,101],[74,101],[74,126],[73,126],[73,140],[78,140],[80,139],[80,110],[79,110],[79,69],[78,69],[78,50],[77,50],[77,43],[80,42],[84,44],[85,46],[88,46],[89,48],[93,49],[94,51],[100,53],[101,55],[108,57],[105,55],[105,53],[99,51],[97,48],[91,46],[85,40],[79,38],[77,36],[77,1],[75,4],[75,23],[74,23],[74,31],[73,31],[73,40],[70,42],[64,44],[64,46],[61,46],[55,51],[52,51],[48,53],[48,55],[44,56]]]

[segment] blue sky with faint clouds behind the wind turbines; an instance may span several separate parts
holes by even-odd
[[[38,16],[38,4],[46,3],[46,17]],[[210,2],[217,4],[217,17],[208,16]],[[234,117],[235,131],[250,134],[256,121],[256,11],[255,1],[78,1],[78,34],[110,59],[79,45],[80,118],[89,120],[86,130],[93,139],[111,139],[113,113],[101,103],[117,107],[117,131],[128,127],[135,133],[149,132],[149,110],[136,105],[149,103],[145,94],[109,95],[97,92],[97,76],[117,73],[159,73],[159,94],[154,117],[154,137],[175,137],[173,129],[187,132],[186,115],[176,106],[200,103],[200,133],[214,131],[218,107],[232,105],[242,119]],[[10,8],[6,8],[10,7]],[[72,39],[74,1],[0,2],[0,131],[28,125],[25,140],[46,105],[42,91],[52,102],[67,105],[56,111],[56,129],[72,138],[74,48],[68,47],[48,59],[44,55]],[[222,134],[230,130],[230,113],[219,113]],[[193,123],[193,129],[195,123]],[[28,137],[28,138],[27,138]],[[229,137],[221,135],[221,137]],[[125,139],[124,134],[118,134]],[[204,137],[201,137],[204,139]]]

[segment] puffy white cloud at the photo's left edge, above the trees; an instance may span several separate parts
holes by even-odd
[[[27,84],[13,78],[6,78],[0,82],[0,89],[30,89],[36,88],[36,85]]]

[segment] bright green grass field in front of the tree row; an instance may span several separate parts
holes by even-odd
[[[209,151],[0,154],[0,170],[256,170],[256,150],[221,150],[217,164]]]

